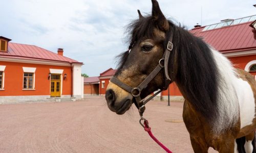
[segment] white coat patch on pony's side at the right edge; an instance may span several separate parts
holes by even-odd
[[[240,106],[241,129],[252,124],[255,115],[255,100],[248,82],[237,79],[237,93]]]

